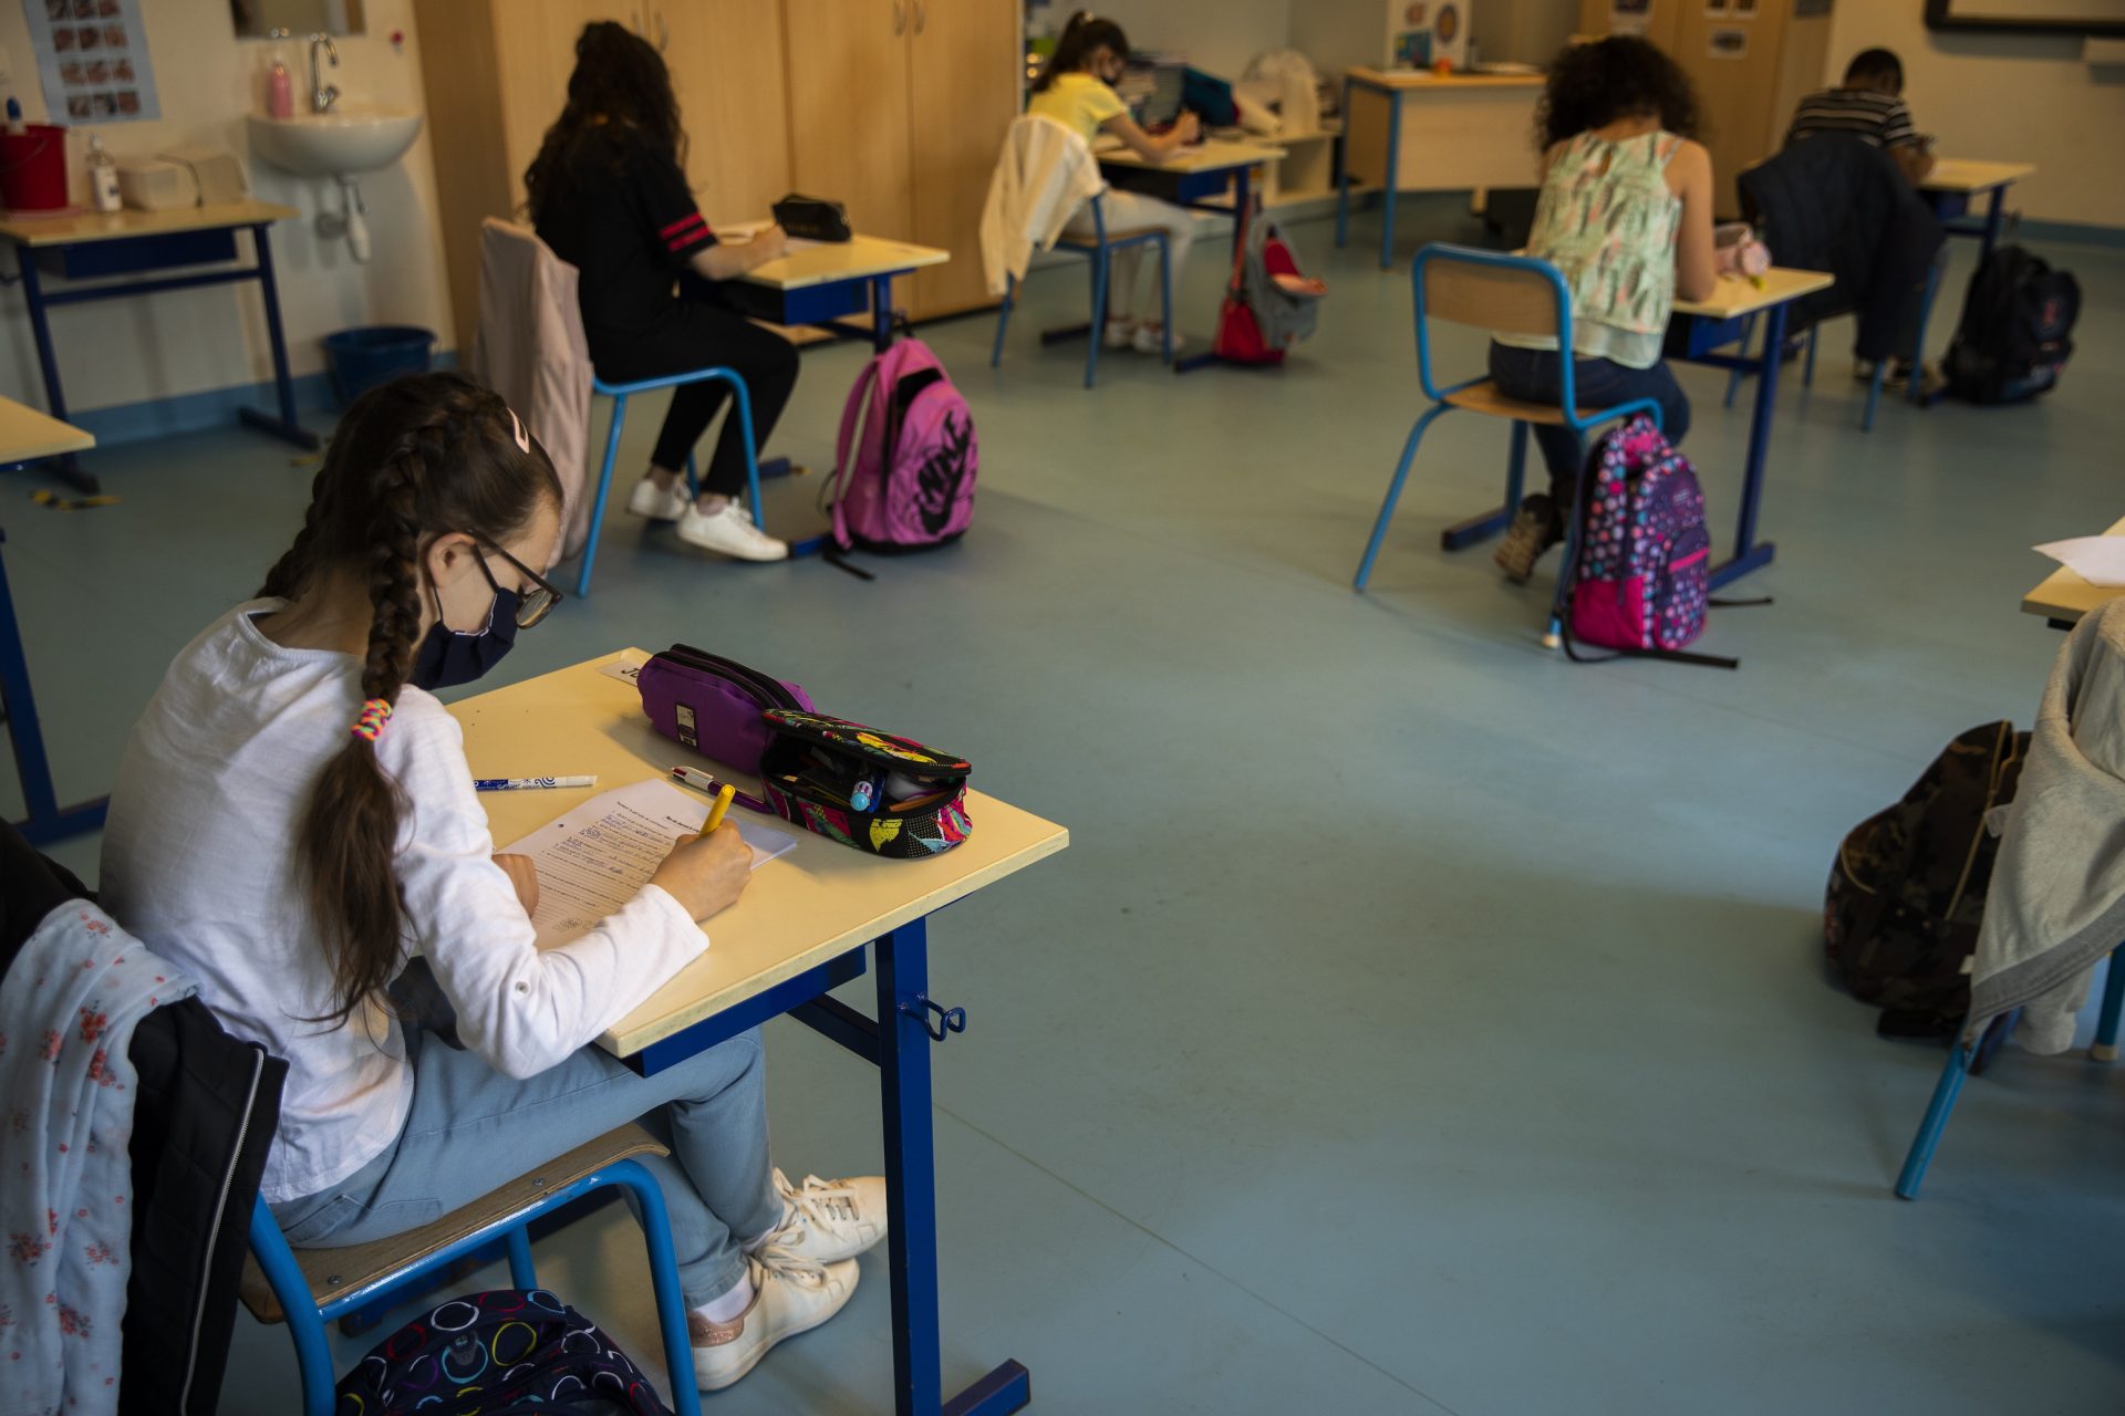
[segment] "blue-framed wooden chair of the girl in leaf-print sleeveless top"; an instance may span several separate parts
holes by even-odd
[[[1511,524],[1513,514],[1519,510],[1530,422],[1566,427],[1581,442],[1585,442],[1585,433],[1602,422],[1632,414],[1647,414],[1655,427],[1660,425],[1660,403],[1653,399],[1632,399],[1613,408],[1579,408],[1570,359],[1562,361],[1562,405],[1558,408],[1511,399],[1498,393],[1498,386],[1490,378],[1466,378],[1443,388],[1432,378],[1428,318],[1473,325],[1492,333],[1553,335],[1558,348],[1568,350],[1572,346],[1572,293],[1564,284],[1564,276],[1549,261],[1432,242],[1417,251],[1417,259],[1409,267],[1409,284],[1417,323],[1417,382],[1424,386],[1424,395],[1432,399],[1432,405],[1417,416],[1409,429],[1409,439],[1402,444],[1402,461],[1396,463],[1394,478],[1388,482],[1388,497],[1379,503],[1373,539],[1366,541],[1364,558],[1358,560],[1358,590],[1364,590],[1364,584],[1373,577],[1373,560],[1379,558],[1379,546],[1388,539],[1388,522],[1394,520],[1394,503],[1402,497],[1402,482],[1409,478],[1409,463],[1417,456],[1417,444],[1424,442],[1424,429],[1449,410],[1462,408],[1488,418],[1507,418],[1513,425],[1513,442],[1504,467],[1504,505],[1447,526],[1439,535],[1441,550],[1460,550]],[[1579,495],[1585,495],[1585,478],[1579,480]],[[1566,567],[1570,567],[1577,546],[1579,505],[1575,501],[1564,520]],[[1549,633],[1545,635],[1545,643],[1551,647],[1556,647],[1562,631],[1566,582],[1568,575],[1558,575],[1558,594],[1551,601]]]

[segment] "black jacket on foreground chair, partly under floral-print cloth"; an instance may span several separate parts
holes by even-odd
[[[4,822],[0,892],[0,977],[47,913],[94,898]],[[125,1055],[138,1078],[119,1412],[212,1416],[287,1061],[225,1034],[198,998],[140,1019]]]

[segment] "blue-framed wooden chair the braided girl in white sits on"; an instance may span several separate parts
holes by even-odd
[[[295,1365],[302,1369],[304,1416],[334,1412],[338,1376],[332,1367],[325,1323],[370,1303],[408,1297],[406,1289],[495,1240],[508,1248],[510,1284],[536,1289],[527,1225],[608,1185],[633,1195],[642,1238],[648,1244],[672,1410],[678,1416],[701,1416],[701,1393],[693,1382],[693,1346],[686,1335],[686,1299],[680,1295],[678,1265],[672,1259],[672,1223],[657,1176],[631,1159],[635,1155],[669,1155],[669,1151],[640,1125],[623,1125],[431,1225],[348,1248],[291,1248],[272,1210],[257,1199],[251,1206],[253,1261],[244,1265],[240,1295],[259,1323],[289,1325]]]

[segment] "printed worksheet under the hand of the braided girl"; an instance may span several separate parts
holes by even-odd
[[[672,841],[701,830],[710,805],[706,796],[650,777],[599,792],[506,847],[538,866],[531,923],[540,947],[565,945],[633,900],[672,853]],[[725,819],[735,822],[752,847],[754,870],[797,845],[797,836],[744,819],[742,811]]]

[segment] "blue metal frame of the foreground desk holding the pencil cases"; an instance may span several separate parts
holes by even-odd
[[[929,917],[880,934],[878,1017],[829,989],[863,977],[863,947],[818,964],[714,1017],[625,1057],[652,1076],[788,1013],[878,1068],[886,1142],[886,1265],[892,1284],[892,1410],[897,1416],[1005,1416],[1033,1399],[1024,1365],[1007,1361],[950,1401],[937,1325],[937,1149],[931,1125],[931,1042],[967,1030],[965,1008],[929,998]]]

